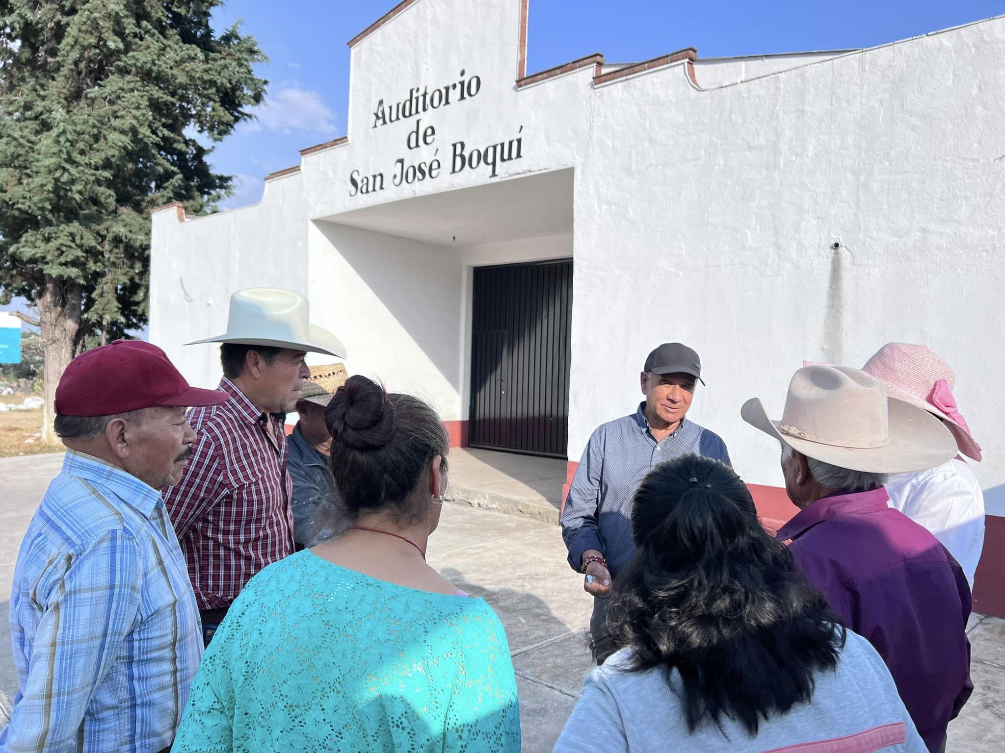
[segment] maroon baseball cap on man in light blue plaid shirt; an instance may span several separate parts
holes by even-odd
[[[230,398],[189,384],[157,345],[115,340],[77,355],[56,388],[62,416],[112,416],[141,408],[215,406]]]

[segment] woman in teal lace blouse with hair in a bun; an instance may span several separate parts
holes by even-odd
[[[502,625],[425,563],[447,482],[442,423],[363,376],[326,419],[354,525],[245,586],[173,750],[519,751]]]

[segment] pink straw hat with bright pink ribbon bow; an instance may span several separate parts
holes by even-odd
[[[809,365],[810,361],[803,361]],[[890,398],[928,411],[946,423],[960,452],[980,462],[981,447],[957,409],[953,388],[956,373],[928,345],[887,342],[866,361],[862,370],[883,383]]]

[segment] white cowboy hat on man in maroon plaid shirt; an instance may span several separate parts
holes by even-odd
[[[327,329],[309,321],[311,304],[299,293],[269,287],[238,290],[230,296],[227,331],[187,342],[240,342],[346,357],[346,348]]]

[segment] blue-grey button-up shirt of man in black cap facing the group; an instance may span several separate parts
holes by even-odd
[[[562,513],[562,537],[572,568],[579,572],[583,552],[596,549],[616,575],[635,554],[631,506],[639,484],[658,464],[688,454],[730,465],[719,435],[686,419],[673,434],[656,442],[644,402],[631,416],[597,429],[576,469]]]

